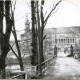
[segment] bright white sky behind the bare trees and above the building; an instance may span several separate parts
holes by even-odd
[[[26,16],[29,19],[31,26],[31,9],[30,0],[16,0],[15,7],[15,27],[17,30],[17,37],[20,39],[20,35],[24,33]],[[59,0],[46,0],[44,5],[45,12],[49,12],[52,5],[56,4]],[[80,26],[80,0],[62,0],[57,6],[54,14],[48,19],[45,28],[56,27],[71,27]],[[11,35],[11,40],[13,40]]]

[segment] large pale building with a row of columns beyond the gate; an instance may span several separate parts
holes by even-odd
[[[80,27],[61,27],[61,28],[48,28],[45,29],[44,34],[46,39],[44,40],[44,45],[47,48],[56,45],[58,50],[64,51],[70,49],[72,45],[74,49],[80,48]]]

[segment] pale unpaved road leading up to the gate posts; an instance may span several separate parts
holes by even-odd
[[[44,79],[80,78],[80,62],[72,57],[67,57],[67,54],[58,53],[57,59],[50,64],[45,72]]]

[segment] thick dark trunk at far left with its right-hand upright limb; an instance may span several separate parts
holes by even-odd
[[[5,58],[10,50],[9,48],[9,38],[10,38],[10,34],[11,34],[11,29],[12,29],[12,21],[10,19],[10,4],[11,1],[5,1],[5,18],[6,18],[6,32],[4,34],[3,37],[3,41],[2,41],[2,52],[1,52],[1,56],[0,56],[0,71],[3,73],[2,74],[2,78],[6,78],[5,76]],[[2,33],[3,34],[3,33]],[[6,40],[5,40],[6,38]]]

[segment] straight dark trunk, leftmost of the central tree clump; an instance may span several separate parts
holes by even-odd
[[[32,11],[32,65],[37,65],[37,30],[35,17],[35,3],[31,1]]]

